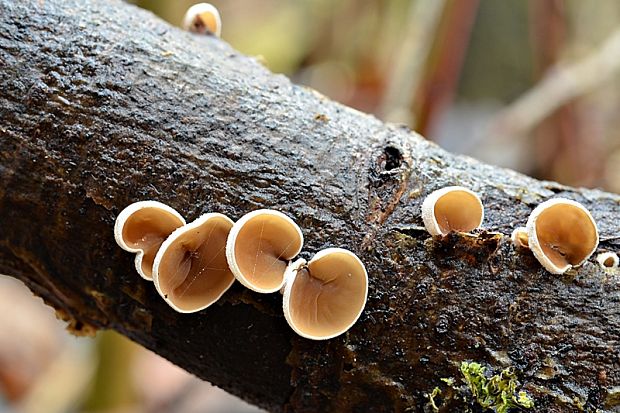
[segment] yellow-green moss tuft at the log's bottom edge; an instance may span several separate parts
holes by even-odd
[[[517,392],[517,376],[512,367],[487,377],[486,368],[479,363],[461,363],[463,380],[478,404],[496,413],[507,413],[511,408],[531,409],[534,401],[524,391]]]

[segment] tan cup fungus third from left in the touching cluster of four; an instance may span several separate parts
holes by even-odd
[[[304,243],[299,226],[281,212],[259,209],[244,215],[226,243],[228,265],[235,278],[259,293],[273,293],[284,285],[289,260]]]

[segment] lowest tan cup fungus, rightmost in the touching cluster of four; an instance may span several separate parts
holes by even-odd
[[[283,292],[286,321],[300,336],[326,340],[347,331],[359,318],[368,296],[368,274],[351,251],[328,248],[306,264],[287,271]]]

